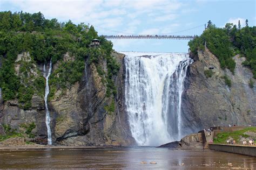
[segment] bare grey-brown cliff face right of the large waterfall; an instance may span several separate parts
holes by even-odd
[[[234,75],[221,69],[218,59],[208,49],[192,58],[196,61],[188,68],[183,94],[184,128],[256,124],[256,87],[248,85],[253,75],[241,65],[245,58],[234,56],[237,63]],[[208,69],[213,75],[207,78]],[[231,87],[226,85],[225,75],[230,78]]]

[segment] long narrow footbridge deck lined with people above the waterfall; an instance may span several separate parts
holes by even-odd
[[[186,39],[191,40],[196,36],[172,36],[172,35],[104,35],[106,39]]]

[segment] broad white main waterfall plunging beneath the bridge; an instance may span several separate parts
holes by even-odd
[[[179,140],[186,53],[124,52],[125,103],[132,136],[140,146]],[[150,56],[142,56],[150,55]]]

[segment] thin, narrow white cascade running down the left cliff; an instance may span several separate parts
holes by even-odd
[[[50,66],[48,69],[48,73],[47,73],[47,69],[45,67],[44,64],[44,77],[46,79],[46,85],[45,85],[45,94],[44,94],[44,103],[45,103],[45,123],[46,123],[46,127],[47,127],[47,134],[48,134],[48,145],[52,144],[52,140],[51,140],[51,127],[50,127],[50,122],[51,122],[51,118],[50,118],[50,113],[49,113],[49,109],[48,109],[48,104],[47,104],[47,98],[48,98],[48,94],[49,94],[49,84],[48,84],[48,80],[49,80],[49,76],[51,75],[51,60],[50,60]]]

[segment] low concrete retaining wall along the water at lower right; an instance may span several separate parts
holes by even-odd
[[[244,155],[256,157],[256,146],[209,144],[209,148],[211,150],[216,150],[216,151],[224,151],[224,152],[244,154]]]

